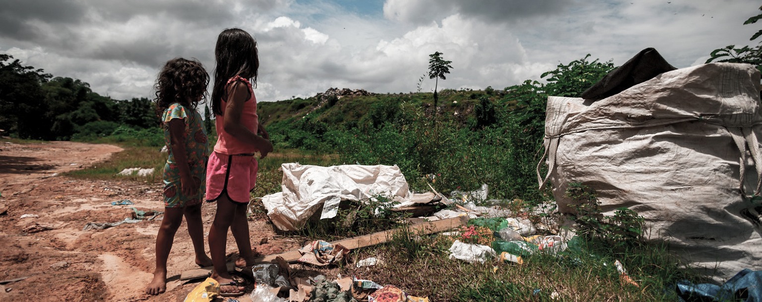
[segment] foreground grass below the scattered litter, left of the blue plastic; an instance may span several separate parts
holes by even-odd
[[[443,236],[424,236],[415,244],[402,237],[356,256],[381,258],[386,265],[340,274],[394,284],[432,301],[674,301],[676,281],[700,281],[660,243],[616,250],[584,243],[559,255],[532,255],[523,265],[499,259],[469,264],[448,259],[451,241],[437,239]],[[621,281],[615,260],[638,286]]]

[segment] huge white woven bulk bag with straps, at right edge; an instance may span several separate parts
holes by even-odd
[[[759,85],[754,66],[711,63],[599,101],[550,97],[539,182],[552,183],[562,213],[571,182],[597,191],[604,214],[635,210],[650,238],[716,280],[760,270]]]

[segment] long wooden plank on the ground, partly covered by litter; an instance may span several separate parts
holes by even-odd
[[[469,221],[469,217],[467,216],[453,217],[453,218],[447,218],[443,220],[414,224],[410,226],[410,230],[412,233],[415,233],[415,234],[427,235],[427,234],[439,233],[446,230],[450,230],[454,227],[463,226],[468,221]],[[392,234],[394,232],[395,230],[386,230],[383,232],[372,233],[370,235],[341,239],[338,241],[334,241],[332,243],[340,244],[341,246],[344,246],[347,249],[360,249],[367,246],[375,246],[376,244],[379,244],[379,243],[386,243],[387,241],[389,241],[389,239],[392,238]],[[302,257],[302,254],[298,250],[293,250],[289,252],[283,252],[280,254],[266,255],[264,257],[259,257],[258,259],[256,259],[256,261],[258,263],[275,263],[275,259],[279,256],[283,257],[283,259],[286,260],[287,262],[296,262],[296,260]],[[235,263],[229,262],[228,271],[234,271],[234,270],[235,270]],[[180,275],[180,280],[206,278],[206,277],[209,277],[211,274],[212,274],[211,266],[206,268],[197,268],[190,271],[183,271],[183,273]]]

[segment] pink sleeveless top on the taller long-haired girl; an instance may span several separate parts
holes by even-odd
[[[244,102],[243,112],[241,113],[241,124],[243,124],[244,127],[246,127],[248,130],[251,130],[252,133],[256,134],[259,126],[259,119],[257,116],[257,98],[254,96],[254,89],[251,88],[251,83],[248,82],[248,79],[244,79],[239,75],[235,75],[235,77],[229,79],[226,88],[228,85],[235,81],[245,82],[246,87],[248,87],[248,93],[251,95],[251,97]],[[229,133],[225,132],[225,127],[223,127],[223,125],[225,125],[226,105],[227,101],[223,99],[220,106],[223,111],[223,115],[215,115],[217,143],[214,145],[214,152],[226,155],[235,155],[251,154],[259,151],[254,146],[244,144],[240,140],[236,140],[235,137],[232,137]]]

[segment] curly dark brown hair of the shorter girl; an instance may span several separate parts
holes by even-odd
[[[172,103],[195,109],[207,98],[209,73],[197,59],[174,58],[158,72],[153,86],[156,90],[156,113],[161,116]]]

